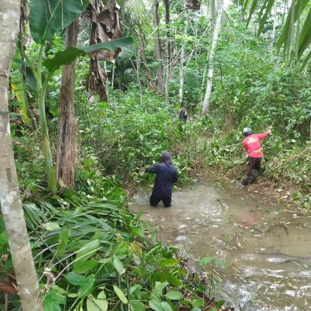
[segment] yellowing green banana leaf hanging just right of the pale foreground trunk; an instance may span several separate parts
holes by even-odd
[[[30,119],[27,116],[28,112],[28,101],[26,88],[23,81],[23,75],[17,69],[11,73],[11,88],[16,95],[18,102],[20,103],[19,110],[20,115],[23,117],[23,122],[26,124],[29,123]]]

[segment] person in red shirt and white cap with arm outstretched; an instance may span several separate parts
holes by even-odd
[[[262,162],[262,157],[264,156],[262,147],[260,146],[260,141],[271,134],[271,129],[262,134],[252,134],[252,130],[249,127],[245,127],[245,129],[243,129],[243,134],[245,136],[243,146],[248,153],[248,164],[242,184],[247,186],[250,182],[255,182],[257,180],[258,171],[260,170],[260,163]]]

